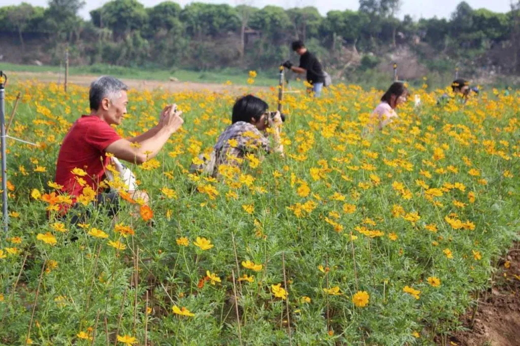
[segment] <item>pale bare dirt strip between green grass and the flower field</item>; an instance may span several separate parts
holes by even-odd
[[[12,72],[9,74],[9,82],[24,82],[37,79],[43,83],[58,82],[59,74],[55,72]],[[97,75],[71,75],[68,83],[82,86],[89,86]],[[258,92],[269,90],[268,87],[243,86],[243,85],[224,85],[216,83],[194,83],[194,82],[167,82],[167,81],[145,81],[143,79],[121,78],[129,88],[139,90],[164,89],[172,92],[181,91],[211,91],[211,92]],[[61,83],[63,83],[63,75],[61,75]]]

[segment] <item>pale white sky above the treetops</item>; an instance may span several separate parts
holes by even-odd
[[[162,1],[163,0],[140,0],[140,2],[146,7],[157,5]],[[24,2],[30,3],[32,5],[47,6],[48,0],[24,0]],[[80,15],[86,19],[89,19],[90,16],[88,12],[106,2],[108,2],[108,0],[86,0],[86,5],[80,11]],[[178,0],[176,2],[181,6],[184,6],[193,1]],[[315,6],[322,15],[327,14],[327,12],[330,10],[356,10],[359,7],[358,0],[203,0],[199,2],[212,4],[226,3],[232,6],[246,3],[260,8],[264,7],[265,5],[277,5],[285,8]],[[399,17],[403,17],[404,15],[411,15],[414,19],[419,19],[421,17],[431,18],[434,16],[449,18],[451,12],[454,11],[459,2],[460,1],[457,0],[401,0],[402,5],[399,12]],[[487,8],[495,12],[507,12],[510,10],[511,4],[511,0],[466,0],[466,2],[475,9]],[[0,6],[18,5],[20,3],[20,0],[0,0]]]

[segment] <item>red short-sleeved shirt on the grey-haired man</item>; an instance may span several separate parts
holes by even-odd
[[[77,178],[82,178],[85,186],[90,185],[97,191],[109,161],[105,149],[119,139],[118,133],[95,115],[82,115],[72,125],[61,143],[55,181],[63,185],[63,192],[70,194],[74,203],[74,197],[82,193],[83,187],[76,181],[77,176],[72,170],[76,167],[83,169],[87,175]]]

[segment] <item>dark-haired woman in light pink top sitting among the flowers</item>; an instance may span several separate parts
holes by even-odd
[[[372,122],[378,119],[378,128],[381,130],[391,123],[394,118],[398,118],[395,109],[399,104],[406,102],[407,96],[408,90],[405,85],[401,82],[394,82],[381,98],[381,103],[372,112]]]

